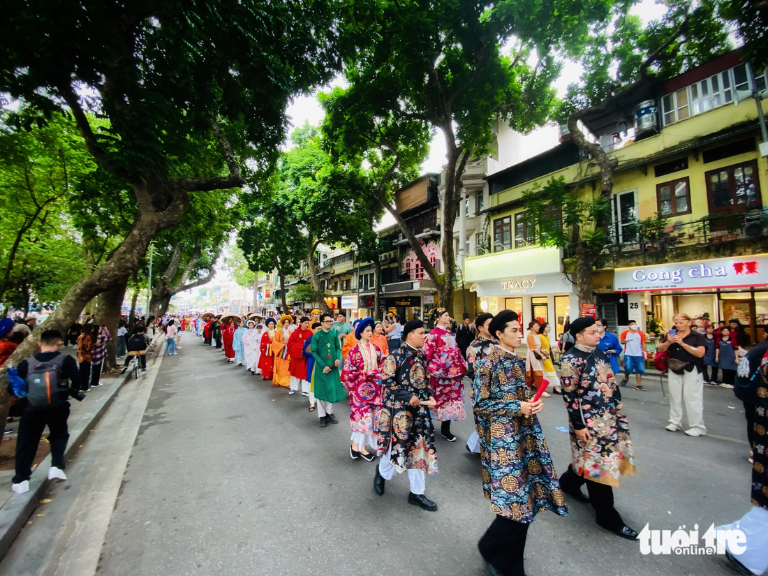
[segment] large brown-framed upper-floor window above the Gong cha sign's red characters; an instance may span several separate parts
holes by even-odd
[[[710,214],[741,214],[762,204],[755,161],[711,170],[705,177]]]

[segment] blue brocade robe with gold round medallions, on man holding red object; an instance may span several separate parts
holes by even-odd
[[[473,396],[483,494],[492,511],[523,523],[540,510],[568,515],[538,418],[520,412],[520,402],[533,396],[525,384],[525,361],[493,346],[475,363]]]

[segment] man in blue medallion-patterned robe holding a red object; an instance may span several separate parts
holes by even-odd
[[[525,574],[525,538],[535,515],[550,510],[565,516],[568,508],[536,417],[544,402],[534,402],[525,362],[515,354],[522,340],[518,314],[502,310],[489,328],[498,344],[476,363],[473,402],[483,432],[483,494],[496,518],[478,550],[491,574]]]

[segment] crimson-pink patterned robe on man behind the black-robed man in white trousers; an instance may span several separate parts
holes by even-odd
[[[429,386],[437,401],[435,418],[441,422],[465,419],[463,379],[467,362],[456,346],[456,337],[449,329],[435,326],[424,342],[424,355]]]

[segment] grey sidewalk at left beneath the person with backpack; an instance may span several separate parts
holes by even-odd
[[[72,349],[62,350],[64,353],[71,354]],[[93,429],[101,416],[108,409],[112,400],[117,396],[121,387],[127,382],[127,378],[133,374],[132,371],[118,376],[102,376],[101,386],[92,388],[86,393],[85,399],[78,402],[75,399],[69,399],[70,415],[68,419],[69,442],[65,456],[69,462],[74,457],[75,452]],[[15,439],[18,429],[18,419],[8,424],[14,431],[5,435],[3,443],[8,439]],[[45,442],[48,436],[48,429],[43,433],[41,443]],[[0,471],[0,558],[5,555],[8,548],[12,545],[18,532],[24,527],[29,516],[35,510],[39,503],[41,495],[44,494],[48,486],[48,468],[51,467],[51,455],[48,454],[33,468],[32,477],[29,481],[29,492],[17,495],[11,490],[13,470]]]

